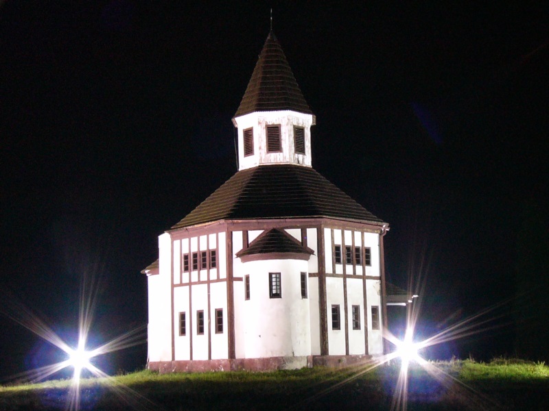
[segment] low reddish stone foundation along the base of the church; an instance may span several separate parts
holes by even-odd
[[[236,358],[233,360],[152,361],[148,369],[159,373],[203,373],[205,371],[274,371],[329,366],[338,368],[362,364],[372,356],[302,356]]]

